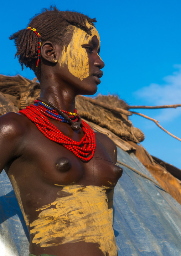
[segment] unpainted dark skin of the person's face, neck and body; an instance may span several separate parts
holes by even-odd
[[[98,45],[97,36],[93,36],[89,44],[82,45],[87,51],[90,74],[81,81],[67,67],[60,68],[57,61],[62,47],[52,42],[44,42],[41,46],[39,79],[41,97],[59,109],[74,112],[76,95],[94,94],[100,83],[97,78],[102,75],[100,70],[104,67],[104,62],[98,55]],[[84,135],[82,128],[75,131],[69,124],[52,119],[50,121],[73,140],[79,141]],[[20,191],[20,205],[22,204],[25,214],[29,216],[29,223],[37,219],[37,208],[56,200],[60,187],[55,184],[106,186],[108,208],[113,207],[114,186],[123,170],[115,165],[117,148],[112,140],[101,133],[95,133],[95,137],[94,157],[83,162],[63,146],[47,139],[23,114],[7,113],[0,117],[0,172],[5,169],[16,195]],[[58,195],[60,198],[63,196],[61,193]],[[19,200],[19,195],[17,197]],[[31,228],[29,225],[27,227],[30,232]],[[98,243],[79,241],[41,247],[32,243],[32,239],[33,235],[30,234],[30,253],[35,255],[46,253],[56,256],[104,256]]]

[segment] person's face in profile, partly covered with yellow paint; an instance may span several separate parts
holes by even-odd
[[[93,27],[87,22],[87,27]],[[100,37],[98,31],[93,27],[91,34],[71,26],[73,29],[72,39],[68,46],[64,45],[58,63],[60,69],[63,70],[64,76],[72,80],[78,86],[77,89],[83,90],[85,94],[93,94],[97,91],[97,85],[100,83],[99,78],[103,72],[100,71],[104,67],[101,60]],[[62,72],[61,72],[62,73]],[[86,93],[86,91],[89,91]]]

